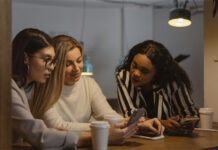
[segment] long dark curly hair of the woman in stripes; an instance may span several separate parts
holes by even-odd
[[[133,58],[139,53],[146,55],[157,70],[154,84],[165,87],[168,83],[176,82],[179,85],[185,84],[188,91],[192,92],[191,81],[185,70],[173,59],[164,45],[153,40],[141,42],[130,49],[124,63],[118,66],[116,71],[130,70]]]

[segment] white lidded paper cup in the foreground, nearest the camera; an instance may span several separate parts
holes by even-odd
[[[93,150],[107,150],[110,125],[106,121],[93,121],[90,125]]]

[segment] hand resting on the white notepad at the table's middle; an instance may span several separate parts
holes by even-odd
[[[163,135],[165,127],[161,124],[161,122],[157,118],[153,119],[141,119],[139,121],[139,131],[142,133],[153,132],[156,135]]]

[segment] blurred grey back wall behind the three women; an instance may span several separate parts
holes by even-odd
[[[209,0],[208,0],[209,1]],[[189,0],[192,24],[168,25],[174,0],[12,0],[12,38],[24,28],[83,42],[93,78],[108,99],[116,99],[115,68],[132,46],[152,39],[173,55],[189,55],[180,65],[193,84],[196,106],[204,104],[204,1]],[[185,0],[178,1],[183,6]]]

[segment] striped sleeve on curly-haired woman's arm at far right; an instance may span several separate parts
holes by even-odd
[[[172,100],[176,105],[179,115],[183,117],[186,117],[187,115],[198,116],[198,111],[194,106],[194,102],[187,87],[185,85],[178,86],[175,82],[172,87],[174,88]]]

